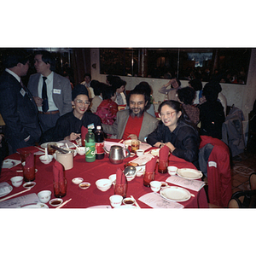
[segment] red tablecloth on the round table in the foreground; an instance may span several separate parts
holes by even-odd
[[[9,155],[9,159],[20,160],[19,154]],[[95,162],[88,163],[85,162],[85,156],[77,155],[74,158],[73,168],[65,171],[65,176],[67,178],[67,195],[63,198],[63,201],[67,201],[72,198],[72,201],[69,201],[67,205],[63,208],[86,208],[100,205],[109,205],[109,196],[113,195],[113,186],[108,189],[106,192],[96,188],[96,180],[100,178],[108,178],[111,174],[116,173],[118,167],[124,170],[124,165],[126,162],[131,161],[133,158],[127,158],[122,164],[113,165],[109,162],[108,156],[105,155],[105,158],[102,160],[96,160]],[[169,166],[177,166],[178,168],[195,168],[191,163],[179,159],[173,155],[169,158]],[[41,190],[48,189],[52,192],[52,197],[54,198],[53,193],[53,173],[52,173],[52,162],[49,165],[44,165],[39,160],[39,156],[36,156],[36,168],[38,172],[36,173],[36,179],[34,180],[37,184],[33,187],[30,192],[24,193],[22,195],[40,192]],[[21,165],[15,166],[11,169],[3,169],[0,177],[0,182],[7,182],[11,184],[10,178],[16,175],[22,175],[22,172],[16,172],[21,170]],[[79,185],[76,185],[72,182],[73,177],[83,177],[84,181],[90,183],[89,189],[80,189]],[[155,180],[166,181],[166,178],[169,177],[169,174],[161,174],[155,172]],[[13,189],[9,195],[20,192],[24,188],[20,186],[19,188]],[[188,189],[189,190],[189,189]],[[195,197],[191,197],[189,201],[182,202],[183,206],[186,208],[198,208],[198,207],[208,207],[207,196],[204,189],[201,189],[199,192],[189,190]],[[131,182],[128,182],[127,195],[133,195],[137,200],[137,203],[142,208],[149,208],[148,205],[139,201],[138,198],[142,195],[152,192],[150,188],[143,186],[143,176],[135,177]],[[7,195],[8,196],[8,195]],[[17,195],[17,197],[20,195]],[[49,208],[51,206],[47,203]]]

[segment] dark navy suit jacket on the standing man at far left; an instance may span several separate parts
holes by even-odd
[[[28,146],[39,141],[38,108],[32,94],[6,71],[0,77],[0,113],[7,127],[6,139],[13,148],[28,136]]]

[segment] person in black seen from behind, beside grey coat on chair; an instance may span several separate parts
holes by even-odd
[[[207,102],[199,105],[201,120],[201,135],[222,138],[222,124],[224,123],[224,108],[218,102],[218,90],[212,86],[212,82],[207,83],[203,89],[203,96]]]

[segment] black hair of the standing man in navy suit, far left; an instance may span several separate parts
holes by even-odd
[[[23,49],[9,49],[3,55],[3,67],[11,68],[19,63],[25,65],[29,58],[30,55]]]

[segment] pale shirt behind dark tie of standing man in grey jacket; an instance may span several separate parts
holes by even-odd
[[[39,78],[39,83],[38,83],[38,96],[40,98],[42,98],[43,77],[44,76],[41,74]],[[54,79],[54,72],[51,72],[47,77],[47,79],[45,80],[45,83],[47,86],[47,97],[48,97],[48,105],[49,105],[48,111],[58,110],[53,100],[53,79]],[[42,107],[38,107],[38,111],[43,111]]]

